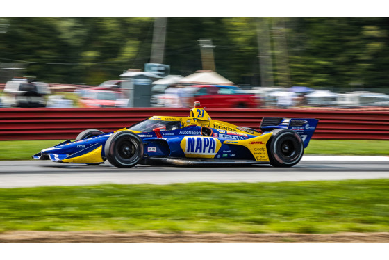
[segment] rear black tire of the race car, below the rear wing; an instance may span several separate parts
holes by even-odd
[[[304,143],[293,130],[275,129],[267,142],[267,154],[274,167],[291,167],[301,160],[304,154]]]

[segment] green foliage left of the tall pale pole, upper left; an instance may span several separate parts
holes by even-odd
[[[10,26],[0,37],[0,58],[22,60],[29,64],[26,74],[52,83],[98,84],[133,66],[143,68],[145,59],[137,55],[145,49],[138,47],[147,47],[152,37],[152,31],[142,35],[151,17],[6,19]]]

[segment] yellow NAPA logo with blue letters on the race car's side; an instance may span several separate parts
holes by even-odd
[[[186,136],[181,141],[181,148],[186,157],[213,158],[222,143],[217,138],[205,136]]]

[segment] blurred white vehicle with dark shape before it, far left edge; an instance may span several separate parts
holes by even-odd
[[[39,108],[46,106],[45,95],[51,93],[49,84],[35,79],[15,78],[6,83],[3,91],[4,106]]]

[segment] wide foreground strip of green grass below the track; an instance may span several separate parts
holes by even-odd
[[[0,231],[389,231],[389,179],[0,189]]]

